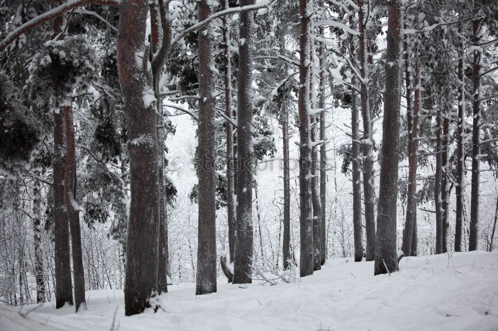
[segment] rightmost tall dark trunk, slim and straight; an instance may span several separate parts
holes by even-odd
[[[482,18],[472,21],[472,41],[475,47],[481,42],[481,22]],[[472,82],[473,82],[473,102],[472,102],[472,189],[471,189],[471,212],[470,212],[470,237],[469,250],[478,249],[479,231],[479,158],[481,153],[481,108],[479,97],[481,95],[481,51],[474,50],[472,62]]]

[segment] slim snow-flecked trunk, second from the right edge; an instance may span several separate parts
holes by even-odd
[[[464,106],[465,85],[463,58],[458,60],[458,127],[457,127],[457,184],[456,215],[455,215],[455,251],[462,251],[462,224],[463,224],[463,185],[464,185]]]

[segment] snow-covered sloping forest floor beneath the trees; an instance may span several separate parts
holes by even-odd
[[[170,285],[164,310],[133,317],[123,291],[89,291],[78,314],[52,303],[0,306],[0,330],[498,330],[498,251],[408,257],[399,267],[374,277],[373,262],[339,258],[295,283],[219,278],[218,293],[203,296],[195,284]]]

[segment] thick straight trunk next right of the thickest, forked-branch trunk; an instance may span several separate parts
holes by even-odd
[[[199,3],[199,20],[213,13],[211,2]],[[216,292],[216,126],[213,98],[214,67],[212,24],[199,30],[199,247],[196,295]]]

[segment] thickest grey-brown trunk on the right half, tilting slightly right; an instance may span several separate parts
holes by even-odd
[[[380,163],[377,231],[375,238],[374,274],[397,271],[396,202],[399,158],[400,107],[400,3],[388,4],[387,50],[382,121],[382,156]]]

